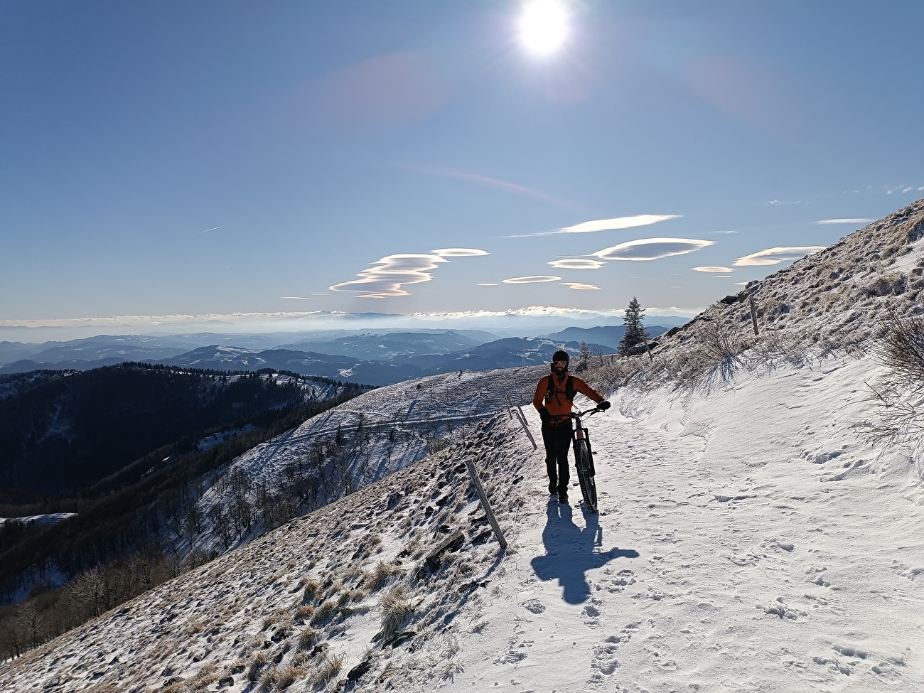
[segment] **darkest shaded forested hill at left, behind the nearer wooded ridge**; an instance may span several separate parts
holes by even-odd
[[[327,379],[140,363],[57,371],[0,399],[0,486],[75,494],[165,445],[192,452],[209,432],[260,427],[335,389]]]

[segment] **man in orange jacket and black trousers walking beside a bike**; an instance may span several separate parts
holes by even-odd
[[[558,492],[559,503],[568,502],[568,451],[571,447],[571,400],[575,393],[587,395],[597,407],[610,408],[610,403],[588,383],[568,374],[568,353],[559,349],[552,357],[552,372],[543,376],[532,395],[532,406],[542,419],[542,443],[545,444],[545,468],[549,473],[549,492]],[[564,419],[554,417],[565,415]]]

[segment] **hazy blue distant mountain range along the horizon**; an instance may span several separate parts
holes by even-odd
[[[654,325],[660,334],[666,325]],[[568,327],[536,337],[481,331],[359,334],[97,335],[67,342],[0,343],[0,373],[85,371],[140,361],[217,371],[263,368],[381,385],[459,370],[487,371],[547,361],[558,348],[574,356],[616,351],[622,326]]]

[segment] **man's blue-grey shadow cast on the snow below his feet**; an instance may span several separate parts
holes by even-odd
[[[549,501],[546,511],[542,543],[545,555],[536,556],[530,562],[541,580],[558,579],[562,586],[565,602],[579,604],[590,597],[590,585],[586,572],[599,568],[614,558],[638,558],[634,549],[610,549],[595,551],[603,545],[603,529],[596,513],[584,513],[587,527],[580,529],[571,519],[571,506],[558,503],[557,498]]]

